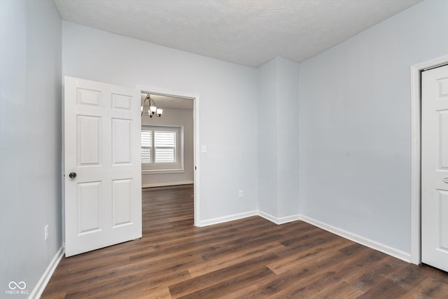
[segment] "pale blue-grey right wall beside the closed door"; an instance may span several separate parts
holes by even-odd
[[[300,212],[409,253],[412,64],[447,55],[423,1],[300,64]]]

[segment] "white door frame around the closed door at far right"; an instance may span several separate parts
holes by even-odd
[[[421,263],[421,71],[448,63],[448,55],[411,67],[411,263]]]

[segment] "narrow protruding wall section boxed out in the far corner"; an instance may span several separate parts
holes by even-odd
[[[277,222],[299,214],[298,65],[276,57],[258,70],[258,207]]]

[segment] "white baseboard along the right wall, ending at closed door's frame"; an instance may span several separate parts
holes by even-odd
[[[341,237],[344,237],[346,239],[349,239],[353,242],[362,244],[364,246],[370,247],[372,249],[375,249],[377,251],[381,251],[382,253],[386,253],[389,256],[393,256],[394,258],[399,258],[400,260],[404,260],[407,263],[410,263],[411,261],[411,255],[410,253],[407,253],[405,251],[400,251],[398,249],[395,249],[391,246],[387,246],[384,244],[381,244],[379,242],[373,241],[371,239],[367,239],[365,237],[361,237],[359,235],[355,235],[351,232],[347,232],[346,230],[342,230],[340,228],[335,228],[332,225],[328,225],[326,223],[323,223],[321,221],[318,221],[316,219],[307,217],[307,216],[300,216],[301,220],[304,222],[307,222],[309,224],[312,224],[314,226],[317,226],[318,228],[322,228],[323,230],[327,230],[328,232],[332,232],[335,235],[339,235]]]

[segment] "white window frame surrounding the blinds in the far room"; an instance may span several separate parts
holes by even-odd
[[[151,162],[141,162],[142,174],[183,173],[183,126],[179,125],[141,125],[141,131],[151,131]],[[155,131],[176,132],[174,160],[176,162],[155,162]],[[141,142],[141,139],[140,139]],[[141,148],[143,146],[141,145]]]

